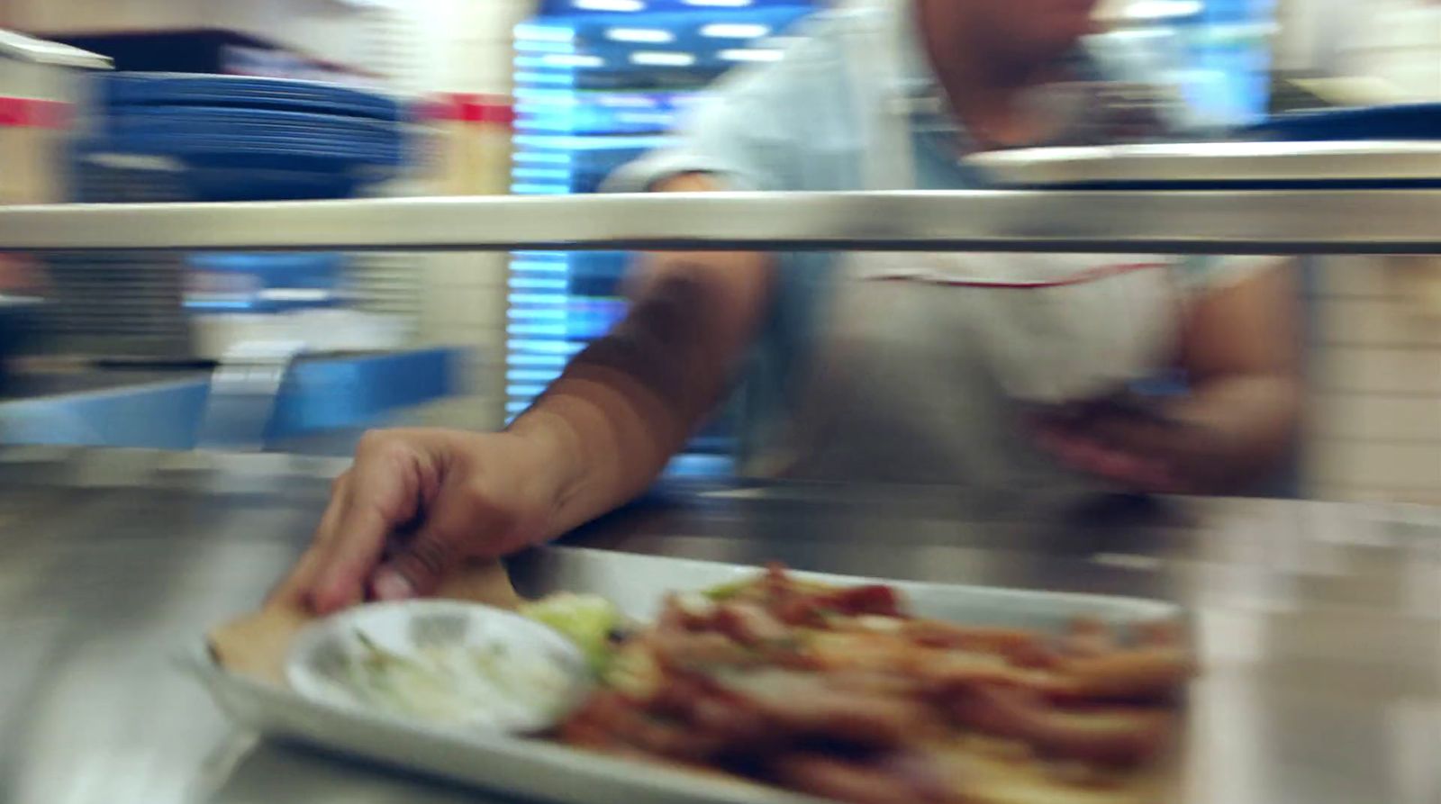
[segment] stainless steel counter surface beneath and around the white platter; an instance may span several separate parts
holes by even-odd
[[[0,451],[0,800],[461,803],[484,794],[235,733],[169,657],[252,607],[343,463]],[[1401,516],[1409,522],[1396,522]],[[653,496],[591,545],[1195,607],[1189,804],[1441,801],[1441,516],[1272,500],[1026,520],[958,491]]]

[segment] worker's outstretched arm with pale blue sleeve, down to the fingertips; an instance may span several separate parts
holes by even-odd
[[[702,171],[723,170],[728,186],[791,187],[816,124],[795,102],[813,92],[810,63],[803,53],[736,71],[676,148],[623,171],[620,186],[669,174],[650,189],[706,192],[719,187]],[[650,255],[625,318],[506,431],[367,434],[272,599],[329,612],[428,595],[465,560],[526,548],[627,501],[725,393],[769,285],[762,255]]]

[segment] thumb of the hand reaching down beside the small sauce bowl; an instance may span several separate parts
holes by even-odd
[[[382,601],[434,594],[478,545],[501,536],[510,520],[474,488],[447,488],[415,535],[376,569],[370,594]]]

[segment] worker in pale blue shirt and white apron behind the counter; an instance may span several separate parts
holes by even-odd
[[[1166,102],[1114,102],[1110,81],[1146,76],[1085,48],[1092,6],[823,14],[612,184],[965,189],[984,184],[967,154],[1164,130]],[[425,594],[463,556],[553,537],[646,488],[732,388],[745,473],[1061,497],[1239,488],[1285,454],[1297,415],[1277,261],[672,254],[647,258],[631,294],[504,432],[366,438],[284,594],[321,611]],[[1169,367],[1186,393],[1127,395]]]

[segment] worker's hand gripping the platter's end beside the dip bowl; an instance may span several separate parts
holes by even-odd
[[[549,536],[563,486],[558,455],[532,437],[369,432],[336,478],[310,549],[271,599],[330,614],[367,598],[429,594],[465,559]]]

